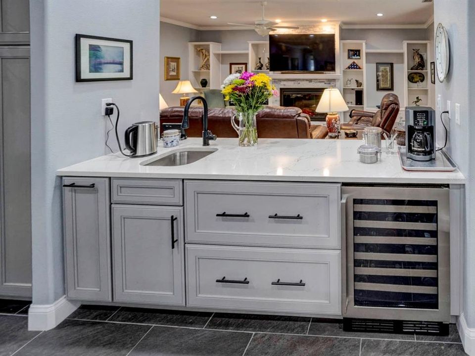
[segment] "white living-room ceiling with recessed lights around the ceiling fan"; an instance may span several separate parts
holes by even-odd
[[[376,16],[377,13],[383,16]],[[410,27],[427,25],[433,3],[423,0],[267,0],[266,19],[284,24],[320,21],[343,25]],[[218,18],[213,20],[211,15]],[[254,24],[261,18],[261,0],[161,0],[160,16],[199,29],[222,29],[228,22]]]

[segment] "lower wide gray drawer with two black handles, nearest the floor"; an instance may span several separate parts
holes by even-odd
[[[341,314],[340,251],[188,244],[186,252],[189,306]]]

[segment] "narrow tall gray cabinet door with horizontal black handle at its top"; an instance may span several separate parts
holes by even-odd
[[[70,299],[111,301],[108,178],[64,178],[64,256]]]

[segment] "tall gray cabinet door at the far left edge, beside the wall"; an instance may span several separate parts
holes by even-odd
[[[31,297],[30,50],[0,48],[0,294]]]

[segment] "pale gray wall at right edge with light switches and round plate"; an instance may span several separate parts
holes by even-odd
[[[463,312],[470,328],[475,327],[475,144],[473,135],[472,109],[475,102],[475,73],[473,56],[475,45],[469,33],[475,33],[475,5],[472,0],[436,0],[434,2],[434,23],[442,23],[450,41],[451,63],[449,75],[443,83],[436,80],[435,95],[441,95],[442,108],[451,100],[448,151],[468,178],[466,187],[466,237],[464,267]],[[461,105],[460,126],[455,123],[455,103]],[[440,110],[437,110],[437,117]],[[440,128],[439,128],[440,129]],[[442,143],[443,130],[438,130],[438,141]],[[472,159],[470,159],[472,157]]]

